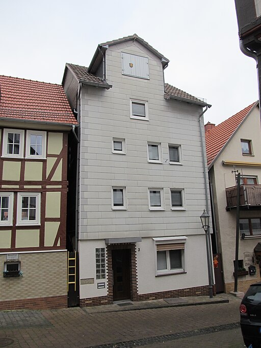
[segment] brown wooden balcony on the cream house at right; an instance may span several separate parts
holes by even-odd
[[[237,208],[237,186],[226,189],[226,210]],[[261,209],[261,185],[240,185],[240,209]]]

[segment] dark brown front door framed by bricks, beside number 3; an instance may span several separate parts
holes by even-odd
[[[112,251],[113,300],[128,300],[131,296],[129,282],[129,249]]]

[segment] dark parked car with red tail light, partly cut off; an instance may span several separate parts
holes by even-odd
[[[261,283],[250,285],[240,305],[240,325],[245,345],[261,344]]]

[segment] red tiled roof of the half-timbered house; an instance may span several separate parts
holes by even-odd
[[[62,85],[0,75],[0,118],[77,124]]]

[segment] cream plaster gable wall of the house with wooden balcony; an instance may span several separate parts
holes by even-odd
[[[252,140],[253,156],[242,155],[241,139]],[[233,282],[233,260],[235,259],[236,250],[236,209],[226,211],[226,192],[225,189],[236,184],[235,176],[231,173],[232,166],[222,166],[222,160],[233,160],[249,163],[261,163],[261,137],[260,137],[260,116],[256,108],[241,125],[231,141],[227,144],[222,154],[217,159],[215,170],[216,186],[216,216],[217,216],[217,233],[222,245],[223,271],[225,282]],[[257,176],[257,183],[261,183],[261,168],[258,167],[236,167],[243,175]],[[213,169],[211,170],[213,171]],[[260,210],[241,210],[240,218],[261,217]],[[239,240],[239,259],[244,260],[244,252],[252,252],[260,239]],[[257,269],[258,272],[258,269]],[[253,279],[253,276],[247,276],[245,279]],[[241,280],[242,277],[241,277]]]

